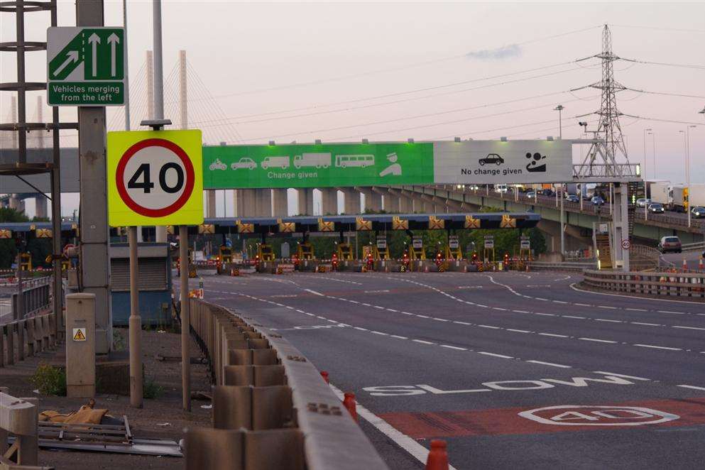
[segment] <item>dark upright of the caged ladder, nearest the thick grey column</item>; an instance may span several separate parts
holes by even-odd
[[[51,26],[57,25],[56,0],[52,0],[51,5]],[[51,226],[52,226],[52,254],[54,271],[54,338],[59,339],[59,332],[63,330],[63,283],[61,279],[61,168],[60,168],[60,146],[59,146],[59,108],[53,106],[51,118],[54,124],[52,131],[52,156],[53,166],[50,173],[51,178]]]

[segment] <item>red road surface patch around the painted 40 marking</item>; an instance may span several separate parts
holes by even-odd
[[[405,435],[414,439],[431,437],[459,437],[459,436],[498,436],[498,435],[519,435],[519,434],[540,434],[547,432],[564,431],[595,431],[595,430],[615,430],[630,428],[654,428],[654,427],[682,427],[692,425],[705,425],[705,398],[692,398],[689,400],[652,400],[628,403],[601,403],[596,406],[627,406],[649,408],[660,412],[678,415],[675,420],[658,422],[635,426],[618,425],[618,420],[606,420],[613,425],[552,425],[536,422],[534,420],[521,417],[520,412],[544,408],[542,406],[520,407],[520,408],[498,408],[493,410],[462,410],[462,411],[440,411],[425,413],[392,412],[381,415],[390,425],[397,428]],[[569,406],[569,405],[566,405]],[[596,408],[597,409],[597,408]],[[589,409],[588,409],[589,410]],[[554,415],[566,410],[557,410]],[[583,409],[577,409],[583,411]],[[587,411],[589,412],[589,411]],[[542,417],[549,417],[550,413],[539,412]],[[614,414],[618,415],[618,414]],[[630,417],[631,418],[631,417]],[[652,421],[647,418],[645,421]],[[633,423],[633,420],[625,420]]]

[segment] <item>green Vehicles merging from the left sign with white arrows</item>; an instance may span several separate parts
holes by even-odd
[[[125,104],[124,44],[123,28],[48,28],[48,104]]]

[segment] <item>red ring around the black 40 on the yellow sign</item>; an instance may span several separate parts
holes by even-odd
[[[175,200],[175,202],[168,205],[167,207],[162,207],[161,209],[150,209],[148,207],[144,207],[140,204],[137,204],[137,202],[135,202],[135,200],[130,197],[125,187],[125,182],[123,181],[127,162],[130,160],[130,158],[132,158],[135,153],[147,147],[163,147],[172,151],[181,160],[181,163],[184,164],[184,168],[186,170],[184,192],[182,192],[182,195],[179,197],[179,199]],[[193,170],[193,165],[191,164],[191,160],[190,158],[188,158],[186,152],[180,146],[177,146],[171,141],[166,141],[163,138],[148,138],[144,141],[139,141],[138,143],[135,143],[133,146],[128,148],[127,151],[122,155],[115,171],[115,183],[121,200],[123,200],[127,207],[132,209],[134,212],[137,212],[138,214],[146,217],[165,217],[181,209],[184,204],[186,204],[189,197],[191,197],[195,180],[196,175]]]

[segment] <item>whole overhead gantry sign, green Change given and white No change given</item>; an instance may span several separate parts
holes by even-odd
[[[205,146],[204,189],[572,181],[572,141]]]

